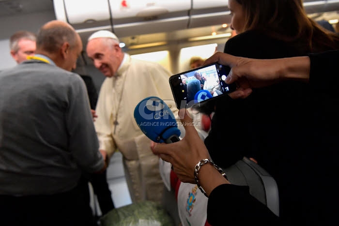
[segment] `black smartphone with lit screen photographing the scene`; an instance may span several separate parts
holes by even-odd
[[[170,88],[178,109],[201,105],[236,90],[225,83],[231,68],[218,63],[198,67],[170,76]]]

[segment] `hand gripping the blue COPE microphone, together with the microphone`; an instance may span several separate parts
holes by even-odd
[[[154,101],[157,103],[154,103]],[[151,107],[152,105],[154,105],[153,108]],[[155,110],[156,105],[158,105],[158,110]],[[185,137],[178,142],[160,144],[167,143],[166,140],[171,136],[173,137],[173,135],[180,136],[180,130],[177,128],[176,124],[173,127],[171,127],[171,124],[169,123],[167,124],[168,126],[160,126],[161,121],[168,121],[170,123],[173,121],[176,122],[173,113],[168,106],[166,106],[167,105],[160,98],[146,98],[137,105],[136,110],[134,111],[134,117],[142,132],[156,142],[151,146],[153,153],[159,155],[164,161],[172,164],[174,172],[177,174],[180,181],[195,183],[194,168],[201,159],[210,158],[209,153],[193,125],[192,118],[185,109],[181,109],[179,113],[179,116],[181,116],[181,123],[185,127]],[[165,111],[166,115],[169,113],[169,115],[172,115],[172,118],[165,118]],[[154,113],[153,118],[151,117],[151,112]],[[162,119],[157,119],[159,113],[160,115],[164,115]]]

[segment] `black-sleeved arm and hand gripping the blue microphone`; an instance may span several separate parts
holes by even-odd
[[[181,121],[186,131],[182,140],[171,144],[153,142],[151,149],[172,164],[180,181],[196,183],[195,166],[200,160],[209,159],[209,153],[186,111]],[[198,179],[209,196],[207,220],[211,225],[277,225],[272,223],[277,222],[278,217],[251,196],[247,186],[230,184],[211,164],[200,167]]]

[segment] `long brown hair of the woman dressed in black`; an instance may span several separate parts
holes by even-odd
[[[245,12],[244,30],[262,30],[308,52],[339,49],[339,36],[308,17],[302,0],[236,0]]]

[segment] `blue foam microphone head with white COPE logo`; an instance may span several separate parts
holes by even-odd
[[[170,107],[159,97],[147,97],[134,109],[134,119],[140,130],[156,143],[180,141],[180,130]]]

